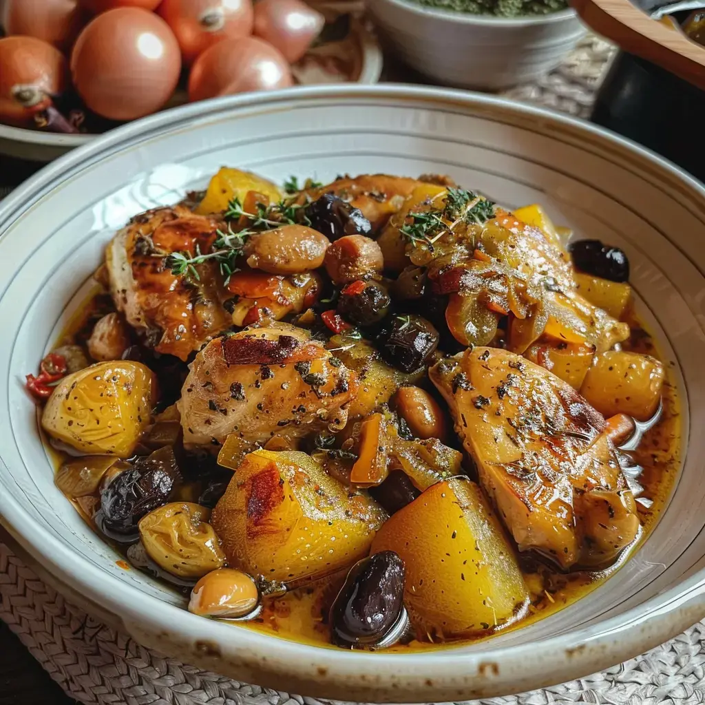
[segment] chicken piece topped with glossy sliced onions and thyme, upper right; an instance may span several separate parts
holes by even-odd
[[[430,217],[434,230],[414,235],[406,250],[412,264],[428,267],[434,292],[449,296],[446,321],[460,343],[491,343],[506,315],[507,347],[515,353],[542,335],[596,353],[627,339],[627,324],[578,293],[570,255],[557,237],[502,209],[479,223],[464,221],[462,207],[449,208],[422,204],[411,217],[422,226]],[[488,215],[484,209],[477,217]]]

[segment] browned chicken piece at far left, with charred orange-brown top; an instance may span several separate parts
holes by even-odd
[[[186,360],[232,325],[214,262],[197,264],[198,278],[174,275],[164,262],[172,252],[208,252],[219,227],[215,218],[183,206],[157,208],[135,216],[107,247],[115,305],[158,353]]]

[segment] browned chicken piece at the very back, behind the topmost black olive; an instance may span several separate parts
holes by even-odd
[[[386,174],[364,174],[355,178],[343,176],[328,185],[307,190],[301,202],[305,202],[306,197],[316,200],[324,193],[332,193],[359,208],[372,223],[372,230],[377,232],[389,216],[401,209],[418,183],[417,179]]]

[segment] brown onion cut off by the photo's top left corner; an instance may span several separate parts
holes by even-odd
[[[71,47],[86,20],[78,0],[6,0],[5,4],[9,36],[36,37],[62,51]]]

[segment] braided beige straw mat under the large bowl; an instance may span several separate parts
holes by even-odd
[[[613,48],[586,37],[556,71],[505,95],[587,117]],[[101,705],[318,705],[199,670],[136,644],[71,605],[0,543],[0,619],[66,693]],[[589,678],[474,705],[703,705],[705,623]],[[329,705],[329,704],[326,704]],[[343,705],[343,704],[332,704]]]

